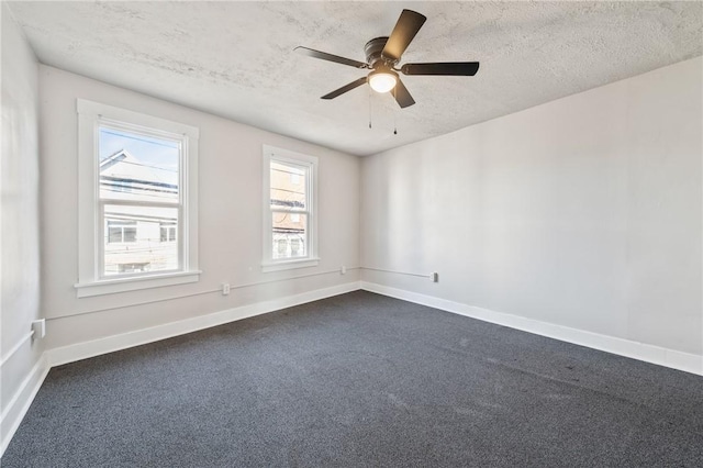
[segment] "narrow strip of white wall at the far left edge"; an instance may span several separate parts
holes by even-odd
[[[21,419],[20,395],[40,378],[43,350],[29,337],[40,314],[37,63],[4,2],[1,16],[0,453]]]

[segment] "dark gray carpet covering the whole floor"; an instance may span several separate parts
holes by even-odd
[[[703,378],[357,291],[52,369],[2,467],[702,467]]]

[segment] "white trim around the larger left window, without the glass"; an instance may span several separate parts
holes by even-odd
[[[112,294],[147,288],[196,282],[200,279],[198,269],[198,127],[169,120],[133,112],[112,105],[78,99],[78,282],[75,286],[78,298]],[[183,135],[181,160],[182,210],[182,268],[178,271],[150,272],[120,278],[101,278],[98,234],[102,232],[98,207],[100,187],[96,171],[99,161],[98,126],[101,119],[158,129],[171,134]],[[187,179],[186,179],[187,178]]]

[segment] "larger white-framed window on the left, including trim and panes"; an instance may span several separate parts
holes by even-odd
[[[198,129],[77,108],[78,297],[198,281]]]

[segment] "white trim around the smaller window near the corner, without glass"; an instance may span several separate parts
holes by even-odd
[[[306,197],[310,204],[308,212],[308,255],[301,258],[283,258],[274,259],[274,230],[271,227],[271,159],[281,160],[283,163],[292,163],[297,165],[306,165],[310,168],[309,180],[306,181]],[[264,145],[263,160],[263,245],[264,260],[261,261],[261,271],[281,271],[293,268],[315,267],[320,264],[317,256],[317,158],[301,153],[281,149],[269,145]],[[312,179],[312,180],[310,180]]]

